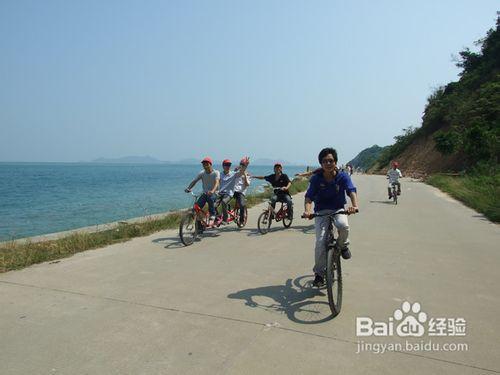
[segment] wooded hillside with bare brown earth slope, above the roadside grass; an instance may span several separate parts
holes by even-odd
[[[498,167],[500,154],[500,17],[476,43],[478,52],[459,52],[457,82],[438,88],[427,100],[420,128],[403,129],[371,172],[397,160],[406,174]]]

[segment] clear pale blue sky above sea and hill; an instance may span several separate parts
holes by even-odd
[[[419,126],[497,0],[0,1],[0,161],[347,162]]]

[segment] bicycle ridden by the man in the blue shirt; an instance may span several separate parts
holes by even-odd
[[[358,212],[358,210],[356,210]],[[340,262],[341,250],[335,238],[333,218],[335,215],[349,215],[349,212],[337,211],[328,214],[311,214],[308,218],[328,217],[328,240],[326,242],[326,290],[328,304],[333,317],[340,313],[342,308],[342,265]],[[304,217],[304,216],[302,216]]]

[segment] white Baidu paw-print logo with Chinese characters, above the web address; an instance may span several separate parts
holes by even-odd
[[[356,318],[357,336],[465,336],[466,321],[463,318],[431,318],[422,311],[420,303],[404,301],[386,322],[369,317]]]

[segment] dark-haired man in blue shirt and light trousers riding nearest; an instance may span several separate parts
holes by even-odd
[[[351,206],[347,212],[355,213],[358,209],[358,197],[356,187],[353,185],[348,173],[337,168],[337,151],[331,147],[324,148],[318,155],[318,160],[322,166],[320,173],[315,173],[309,182],[309,187],[305,195],[304,217],[310,218],[312,215],[312,202],[314,202],[314,212],[324,215],[334,213],[344,209],[346,204],[346,194],[349,195]],[[319,287],[324,283],[326,268],[326,241],[328,229],[328,217],[316,217],[314,226],[316,228],[315,243],[315,263],[313,285]],[[336,215],[333,224],[338,230],[337,243],[341,249],[342,258],[349,259],[349,223],[347,215]]]

